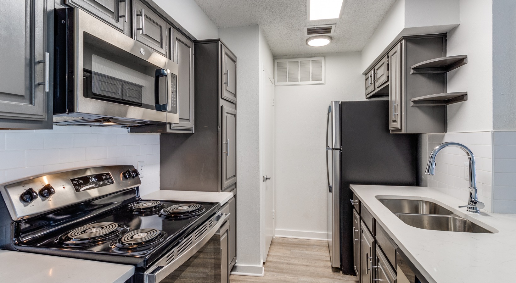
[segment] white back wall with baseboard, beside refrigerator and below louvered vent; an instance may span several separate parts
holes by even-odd
[[[365,93],[359,52],[325,56],[325,85],[275,87],[276,236],[327,239],[328,105]]]

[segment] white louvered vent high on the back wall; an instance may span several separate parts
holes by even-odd
[[[276,59],[276,86],[325,83],[325,57]]]

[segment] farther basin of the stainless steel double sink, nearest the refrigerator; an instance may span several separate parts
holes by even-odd
[[[442,214],[451,215],[453,212],[432,202],[419,199],[378,198],[378,201],[393,213]]]

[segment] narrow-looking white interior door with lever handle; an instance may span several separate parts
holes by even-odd
[[[274,237],[274,81],[263,70],[262,108],[262,151],[263,151],[263,261],[267,259],[270,242]],[[267,179],[270,178],[270,179]]]

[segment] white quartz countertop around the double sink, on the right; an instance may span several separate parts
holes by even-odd
[[[428,187],[351,185],[415,267],[430,282],[516,282],[516,214],[466,212],[464,199]],[[437,203],[494,234],[425,230],[402,222],[379,198],[423,199]],[[482,199],[479,199],[482,201]]]

